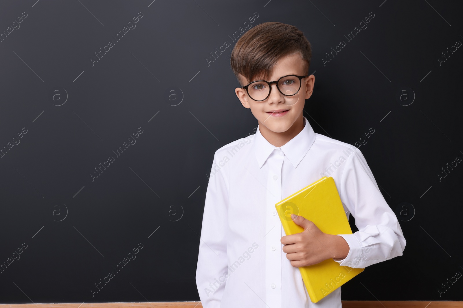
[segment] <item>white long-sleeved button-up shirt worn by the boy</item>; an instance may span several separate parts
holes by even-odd
[[[281,147],[257,127],[215,152],[196,268],[204,308],[342,307],[341,288],[311,302],[299,268],[282,250],[286,234],[275,210],[275,203],[323,176],[333,177],[347,218],[352,213],[359,229],[340,235],[350,247],[340,266],[365,268],[402,255],[406,241],[397,217],[363,154],[304,121]]]

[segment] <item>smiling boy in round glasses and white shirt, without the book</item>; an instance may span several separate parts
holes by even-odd
[[[360,150],[314,133],[303,116],[315,80],[307,75],[310,60],[303,33],[279,22],[258,24],[232,50],[241,85],[235,93],[258,127],[214,154],[196,269],[204,308],[342,307],[341,288],[311,302],[298,267],[333,258],[364,268],[405,248]],[[294,222],[305,230],[286,236],[275,203],[325,175],[333,177],[359,231],[325,234],[298,216]]]

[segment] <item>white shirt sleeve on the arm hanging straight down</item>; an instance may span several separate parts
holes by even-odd
[[[227,271],[227,212],[228,182],[225,166],[217,164],[214,154],[211,175],[206,190],[201,227],[196,286],[204,308],[219,308],[225,290],[223,279]]]

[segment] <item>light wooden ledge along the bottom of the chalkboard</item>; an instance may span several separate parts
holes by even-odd
[[[463,308],[450,301],[342,301],[343,308]],[[0,304],[0,308],[202,308],[200,302],[106,302],[64,304]]]

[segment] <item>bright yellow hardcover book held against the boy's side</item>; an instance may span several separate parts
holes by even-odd
[[[304,231],[291,219],[293,213],[312,221],[324,233],[352,234],[338,189],[331,176],[324,176],[302,188],[275,204],[275,207],[286,235]],[[339,266],[335,260],[327,259],[318,264],[299,267],[299,270],[311,301],[318,302],[363,272],[364,268]]]

